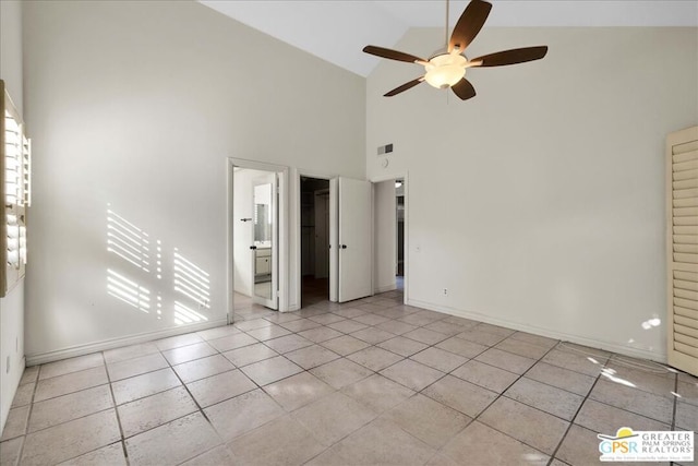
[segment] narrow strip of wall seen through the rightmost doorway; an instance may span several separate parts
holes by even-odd
[[[397,199],[395,180],[374,184],[374,289],[383,292],[395,289],[395,264],[397,242]]]

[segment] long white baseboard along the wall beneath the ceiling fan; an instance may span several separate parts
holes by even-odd
[[[430,311],[442,312],[457,318],[471,319],[473,321],[480,321],[488,324],[500,325],[503,327],[517,330],[521,332],[528,332],[535,335],[546,336],[553,339],[559,339],[563,342],[576,343],[578,345],[589,346],[592,348],[604,349],[606,351],[617,353],[619,355],[629,356],[633,358],[649,359],[652,361],[666,363],[666,354],[658,354],[642,348],[631,348],[628,346],[618,345],[616,343],[603,342],[600,339],[588,338],[585,336],[573,335],[564,332],[557,332],[550,328],[538,327],[534,325],[522,324],[519,322],[512,322],[506,319],[497,319],[491,315],[481,314],[478,312],[465,311],[462,309],[449,308],[445,306],[437,306],[431,302],[419,301],[416,299],[409,299],[407,301],[409,306],[416,308],[428,309]]]

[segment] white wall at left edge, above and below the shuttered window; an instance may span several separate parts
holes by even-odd
[[[23,115],[22,5],[0,2],[0,79]],[[27,128],[32,135],[32,127]],[[8,365],[9,361],[9,365]],[[0,299],[0,434],[24,372],[24,280]]]

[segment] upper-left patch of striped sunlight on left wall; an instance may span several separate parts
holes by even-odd
[[[107,211],[107,251],[148,272],[148,235],[113,211]]]

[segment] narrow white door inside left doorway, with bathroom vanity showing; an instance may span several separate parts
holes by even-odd
[[[252,188],[252,298],[258,304],[278,309],[278,176],[269,175],[272,182],[257,182]]]

